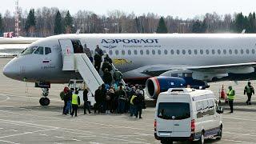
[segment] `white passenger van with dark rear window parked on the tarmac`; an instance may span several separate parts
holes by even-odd
[[[211,90],[169,89],[158,96],[154,137],[162,143],[221,139],[222,113]]]

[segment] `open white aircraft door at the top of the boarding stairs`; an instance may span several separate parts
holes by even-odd
[[[59,39],[62,47],[62,70],[74,70],[74,48],[70,39]]]

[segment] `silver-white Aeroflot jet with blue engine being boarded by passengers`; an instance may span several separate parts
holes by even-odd
[[[82,79],[63,70],[63,55],[82,53],[85,44],[92,54],[96,45],[109,54],[126,82],[146,82],[151,98],[174,86],[256,78],[256,34],[62,34],[30,44],[3,74],[35,82],[46,96],[50,83]]]

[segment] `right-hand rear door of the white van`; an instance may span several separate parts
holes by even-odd
[[[189,98],[174,98],[174,132],[172,137],[190,137],[191,134],[191,112]]]

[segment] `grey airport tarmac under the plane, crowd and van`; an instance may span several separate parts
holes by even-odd
[[[18,82],[6,78],[2,68],[10,58],[0,58],[0,143],[12,144],[66,144],[66,143],[159,143],[154,139],[154,107],[142,111],[142,119],[130,118],[128,114],[83,114],[77,118],[62,115],[63,102],[59,93],[65,85],[52,85],[50,106],[40,106],[41,89],[34,83]],[[256,81],[251,81],[256,86]],[[218,97],[222,84],[234,86],[236,100],[234,114],[229,114],[225,103],[223,136],[221,141],[206,143],[255,143],[256,98],[246,106],[243,95],[246,81],[210,83]],[[182,142],[178,142],[182,143]]]

